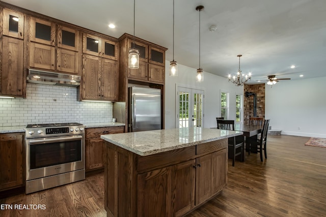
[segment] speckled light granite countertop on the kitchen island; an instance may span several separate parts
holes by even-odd
[[[198,145],[242,135],[243,132],[207,128],[180,128],[101,135],[101,139],[119,147],[148,156],[154,153]]]

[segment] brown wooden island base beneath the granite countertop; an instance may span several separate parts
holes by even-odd
[[[184,216],[196,209],[227,183],[227,142],[151,156],[105,142],[107,216]]]

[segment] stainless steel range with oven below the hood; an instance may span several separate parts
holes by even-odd
[[[26,126],[26,194],[85,179],[84,129],[80,123]]]

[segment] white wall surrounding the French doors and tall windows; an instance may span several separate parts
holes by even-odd
[[[196,82],[197,69],[178,64],[178,77],[170,77],[170,62],[166,61],[165,90],[165,128],[175,128],[176,122],[176,86],[204,90],[204,128],[216,127],[215,117],[220,116],[220,90],[230,93],[229,119],[235,119],[236,94],[243,95],[243,87],[228,82],[227,78],[204,72],[204,81]],[[203,69],[205,70],[205,69]]]

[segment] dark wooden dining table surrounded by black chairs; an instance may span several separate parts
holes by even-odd
[[[218,128],[214,127],[212,129],[218,129]],[[246,125],[244,123],[235,123],[234,124],[235,131],[243,132],[243,134],[241,136],[237,136],[237,137],[242,137],[242,139],[243,139],[242,141],[244,142],[244,144],[246,146],[246,151],[249,151],[250,141],[257,140],[258,134],[260,134],[262,132],[262,129],[263,129],[263,126]],[[269,129],[270,129],[270,127],[269,127]],[[251,145],[250,152],[257,153],[256,143],[253,143]],[[242,160],[244,161],[244,151],[242,152]]]

